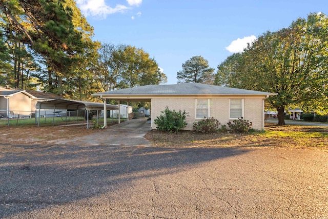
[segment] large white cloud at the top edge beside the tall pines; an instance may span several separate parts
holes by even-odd
[[[115,8],[112,8],[109,5],[106,5],[105,0],[76,0],[76,3],[85,16],[98,16],[106,18],[108,14],[117,12],[122,13],[129,9],[124,5],[116,5]]]

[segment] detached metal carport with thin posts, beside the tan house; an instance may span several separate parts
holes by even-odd
[[[89,110],[97,110],[97,120],[98,120],[98,110],[104,110],[104,121],[106,121],[107,110],[118,110],[118,106],[104,103],[94,103],[85,101],[73,101],[72,99],[55,99],[54,101],[38,102],[36,104],[36,109],[39,110],[38,113],[38,124],[40,125],[40,110],[41,109],[51,109],[54,114],[56,110],[86,110],[87,111],[87,128],[89,128]],[[55,117],[53,117],[54,125]]]

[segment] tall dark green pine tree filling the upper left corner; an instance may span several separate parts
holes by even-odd
[[[63,84],[63,78],[77,65],[76,54],[83,52],[81,31],[74,27],[73,12],[64,4],[64,0],[0,3],[2,28],[45,59],[50,91]]]

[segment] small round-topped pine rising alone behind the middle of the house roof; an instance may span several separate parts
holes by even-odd
[[[178,83],[213,84],[214,69],[202,56],[193,56],[182,64],[182,70],[177,72]]]

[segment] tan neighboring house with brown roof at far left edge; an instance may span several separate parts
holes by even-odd
[[[35,113],[37,102],[61,98],[53,93],[0,87],[0,114],[9,117],[28,117]]]

